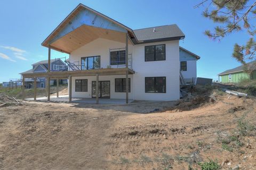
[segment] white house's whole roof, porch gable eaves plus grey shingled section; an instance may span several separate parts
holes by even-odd
[[[123,29],[126,29],[133,44],[171,41],[171,40],[183,39],[185,37],[185,35],[182,33],[182,31],[179,29],[179,27],[177,25],[159,26],[159,27],[151,27],[151,28],[132,30],[131,28],[123,25],[122,23],[109,18],[106,15],[104,15],[98,11],[95,11],[88,6],[85,6],[83,4],[78,4],[78,6],[44,40],[42,45],[45,47],[49,47],[51,40],[55,36],[57,36],[60,33],[60,31],[63,28],[65,28],[68,25],[68,23],[77,16],[77,14],[79,12],[81,12],[84,9],[89,10],[89,11],[99,15],[100,17],[102,17],[110,22],[115,23],[116,25],[118,25],[119,27],[122,27]],[[155,31],[153,31],[153,30],[155,30]],[[57,50],[57,51],[65,52],[57,47],[51,46],[51,48],[53,48],[54,50]],[[67,52],[67,53],[69,53],[69,52]]]

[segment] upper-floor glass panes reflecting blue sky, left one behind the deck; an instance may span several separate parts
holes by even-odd
[[[81,70],[100,69],[100,56],[81,58]]]

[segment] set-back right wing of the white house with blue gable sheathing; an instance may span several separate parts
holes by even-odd
[[[196,61],[200,56],[180,47],[180,71],[186,83],[194,83],[196,75]]]

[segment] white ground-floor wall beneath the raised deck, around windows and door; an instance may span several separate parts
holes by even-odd
[[[131,92],[129,93],[129,99],[133,99],[133,75],[129,75],[128,77],[131,78]],[[99,81],[110,81],[110,99],[125,99],[125,92],[115,92],[115,78],[125,78],[125,75],[99,76]],[[87,79],[87,92],[75,92],[76,79]],[[92,81],[96,81],[96,76],[72,77],[72,97],[92,98]]]

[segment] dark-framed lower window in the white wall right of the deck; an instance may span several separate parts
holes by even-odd
[[[145,77],[146,93],[166,93],[165,77]]]

